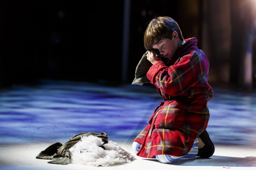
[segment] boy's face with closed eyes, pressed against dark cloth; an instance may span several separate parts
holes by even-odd
[[[177,50],[177,41],[174,37],[172,39],[162,38],[158,44],[153,45],[153,48],[158,49],[160,54],[171,59]]]

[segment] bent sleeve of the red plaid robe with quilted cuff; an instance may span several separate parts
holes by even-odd
[[[176,96],[193,86],[193,72],[192,57],[184,56],[170,67],[163,61],[157,61],[147,72],[147,78],[162,92]]]

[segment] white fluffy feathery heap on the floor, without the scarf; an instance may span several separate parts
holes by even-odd
[[[134,159],[127,151],[118,146],[117,143],[108,141],[108,143],[103,145],[106,150],[99,147],[103,143],[101,138],[92,135],[82,137],[79,142],[69,149],[72,163],[108,166],[128,163]]]

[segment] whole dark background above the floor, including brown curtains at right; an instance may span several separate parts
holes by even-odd
[[[197,37],[210,61],[209,83],[255,88],[255,1],[128,1],[123,80],[124,2],[1,1],[0,87],[38,79],[131,83],[145,53],[147,23],[154,16],[170,16],[185,39]]]

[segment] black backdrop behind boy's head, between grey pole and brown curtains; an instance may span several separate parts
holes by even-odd
[[[143,35],[148,23],[155,16],[170,16],[173,18],[179,24],[184,39],[197,37],[198,47],[201,48],[201,8],[201,0],[131,1],[129,71],[135,70],[142,55],[146,52]],[[128,76],[129,79],[134,78],[134,74]]]

